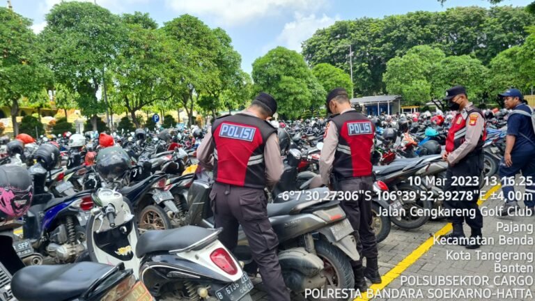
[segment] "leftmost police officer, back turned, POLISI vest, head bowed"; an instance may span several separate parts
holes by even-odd
[[[283,171],[277,129],[268,121],[277,102],[260,93],[245,111],[215,120],[197,150],[201,166],[214,171],[210,193],[219,240],[231,251],[242,226],[270,300],[290,300],[277,257],[279,241],[267,218],[264,187],[272,187]],[[213,164],[212,164],[213,156]]]

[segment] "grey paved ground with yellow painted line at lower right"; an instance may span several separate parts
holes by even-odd
[[[489,192],[493,187],[483,188],[483,192],[488,192],[488,199],[482,203],[481,208],[495,208],[502,205],[503,201],[499,198],[501,190],[498,188],[494,187],[495,193]],[[523,204],[520,206],[523,207]],[[433,235],[449,233],[451,226],[446,222],[428,222],[413,231],[404,231],[392,225],[388,238],[379,245],[383,284],[371,286],[375,295],[364,293],[363,298],[358,300],[533,300],[532,295],[535,295],[533,260],[531,262],[504,260],[499,268],[525,269],[525,271],[504,272],[495,270],[497,260],[482,257],[514,253],[535,256],[535,246],[529,241],[529,238],[534,238],[532,231],[529,229],[509,231],[510,229],[504,228],[510,225],[533,226],[535,217],[484,217],[483,221],[483,236],[495,238],[495,244],[481,247],[479,258],[476,251],[467,250],[465,247],[433,243]],[[503,226],[498,229],[497,225],[500,223]],[[467,226],[465,233],[470,235]],[[518,240],[522,238],[527,241],[502,242],[500,245],[500,236]],[[518,265],[514,266],[515,264]],[[426,277],[437,275],[460,276],[459,279],[464,281],[468,281],[470,276],[476,276],[472,279],[482,280],[483,283],[473,286],[461,283],[452,287],[410,283],[414,279],[424,281]],[[488,277],[488,283],[485,282],[485,277]],[[502,282],[506,280],[518,282],[522,279],[529,285],[511,283],[507,285]],[[253,300],[268,300],[261,284],[257,288],[259,289],[252,292]],[[474,294],[474,298],[470,298],[470,293]],[[480,295],[476,295],[478,293]]]

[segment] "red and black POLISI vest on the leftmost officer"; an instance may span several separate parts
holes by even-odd
[[[274,132],[277,129],[256,116],[238,113],[217,118],[212,125],[216,182],[264,189],[265,141]]]

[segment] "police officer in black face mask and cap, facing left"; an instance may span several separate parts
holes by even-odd
[[[447,90],[444,100],[448,102],[450,110],[457,111],[449,128],[446,152],[442,155],[442,160],[448,162],[444,192],[460,192],[452,193],[451,198],[444,202],[446,208],[453,210],[453,232],[444,237],[450,244],[477,249],[483,228],[483,216],[477,206],[477,200],[479,180],[483,171],[485,118],[483,112],[468,101],[463,86],[454,86]],[[467,211],[475,214],[467,214]],[[465,239],[463,222],[472,229],[468,240]]]

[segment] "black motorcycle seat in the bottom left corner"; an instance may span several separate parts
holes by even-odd
[[[15,273],[11,290],[19,301],[72,300],[114,268],[93,262],[31,265]]]

